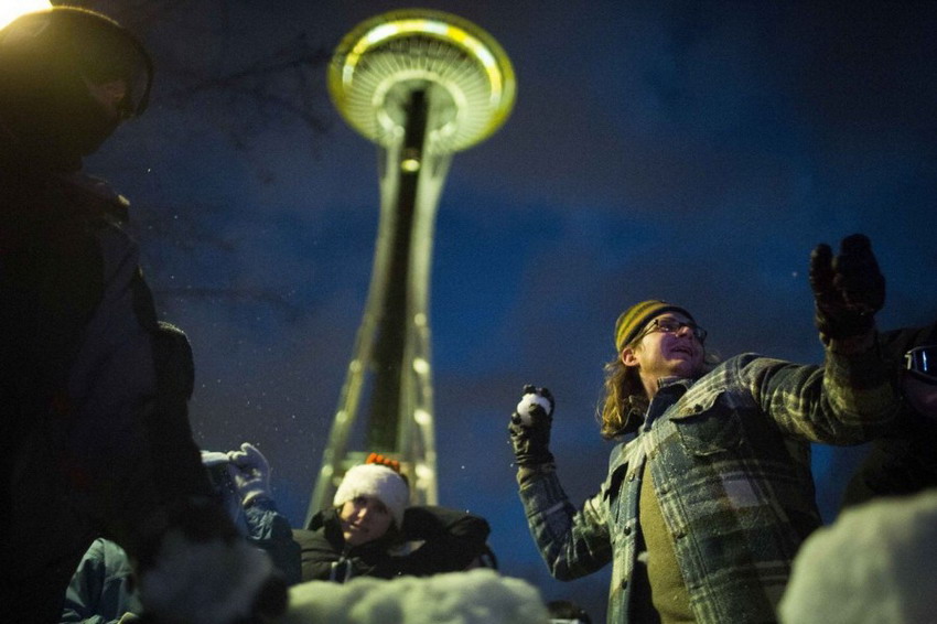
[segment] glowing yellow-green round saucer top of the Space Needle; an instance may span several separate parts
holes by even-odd
[[[498,43],[475,24],[439,11],[401,10],[360,23],[338,44],[329,92],[345,120],[389,147],[400,139],[406,103],[426,90],[427,147],[468,148],[497,130],[514,106],[514,68]]]

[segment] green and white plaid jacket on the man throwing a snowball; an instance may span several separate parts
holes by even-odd
[[[896,408],[876,352],[828,352],[825,368],[744,354],[663,387],[579,510],[552,470],[525,476],[520,498],[553,577],[612,562],[607,621],[626,623],[650,470],[697,621],[774,622],[797,548],[820,524],[809,442],[865,441]]]

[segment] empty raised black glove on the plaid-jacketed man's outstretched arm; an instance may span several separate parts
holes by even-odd
[[[843,238],[836,257],[829,245],[814,249],[810,288],[823,342],[869,333],[875,326],[875,313],[885,304],[885,278],[872,244],[862,234]]]

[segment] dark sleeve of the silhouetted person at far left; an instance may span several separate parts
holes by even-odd
[[[144,559],[169,525],[212,497],[189,422],[192,351],[181,330],[157,320],[137,246],[116,227],[97,236],[104,289],[68,383],[68,455],[89,512]],[[214,535],[233,529],[224,518],[197,521]]]

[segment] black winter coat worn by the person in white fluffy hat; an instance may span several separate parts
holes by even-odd
[[[383,538],[356,547],[345,544],[337,509],[320,512],[310,528],[293,531],[302,549],[303,581],[336,582],[353,577],[428,577],[464,570],[485,552],[491,530],[484,518],[434,506],[409,507],[402,530],[391,529]],[[417,541],[422,544],[406,548]]]

